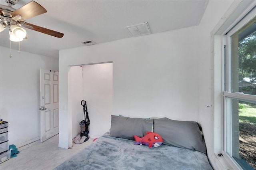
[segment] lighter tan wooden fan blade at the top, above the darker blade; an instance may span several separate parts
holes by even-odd
[[[12,16],[21,16],[22,18],[19,21],[24,21],[34,16],[38,16],[40,14],[44,14],[46,9],[42,7],[37,2],[31,1],[28,4],[20,7],[18,10],[15,10],[11,13]]]

